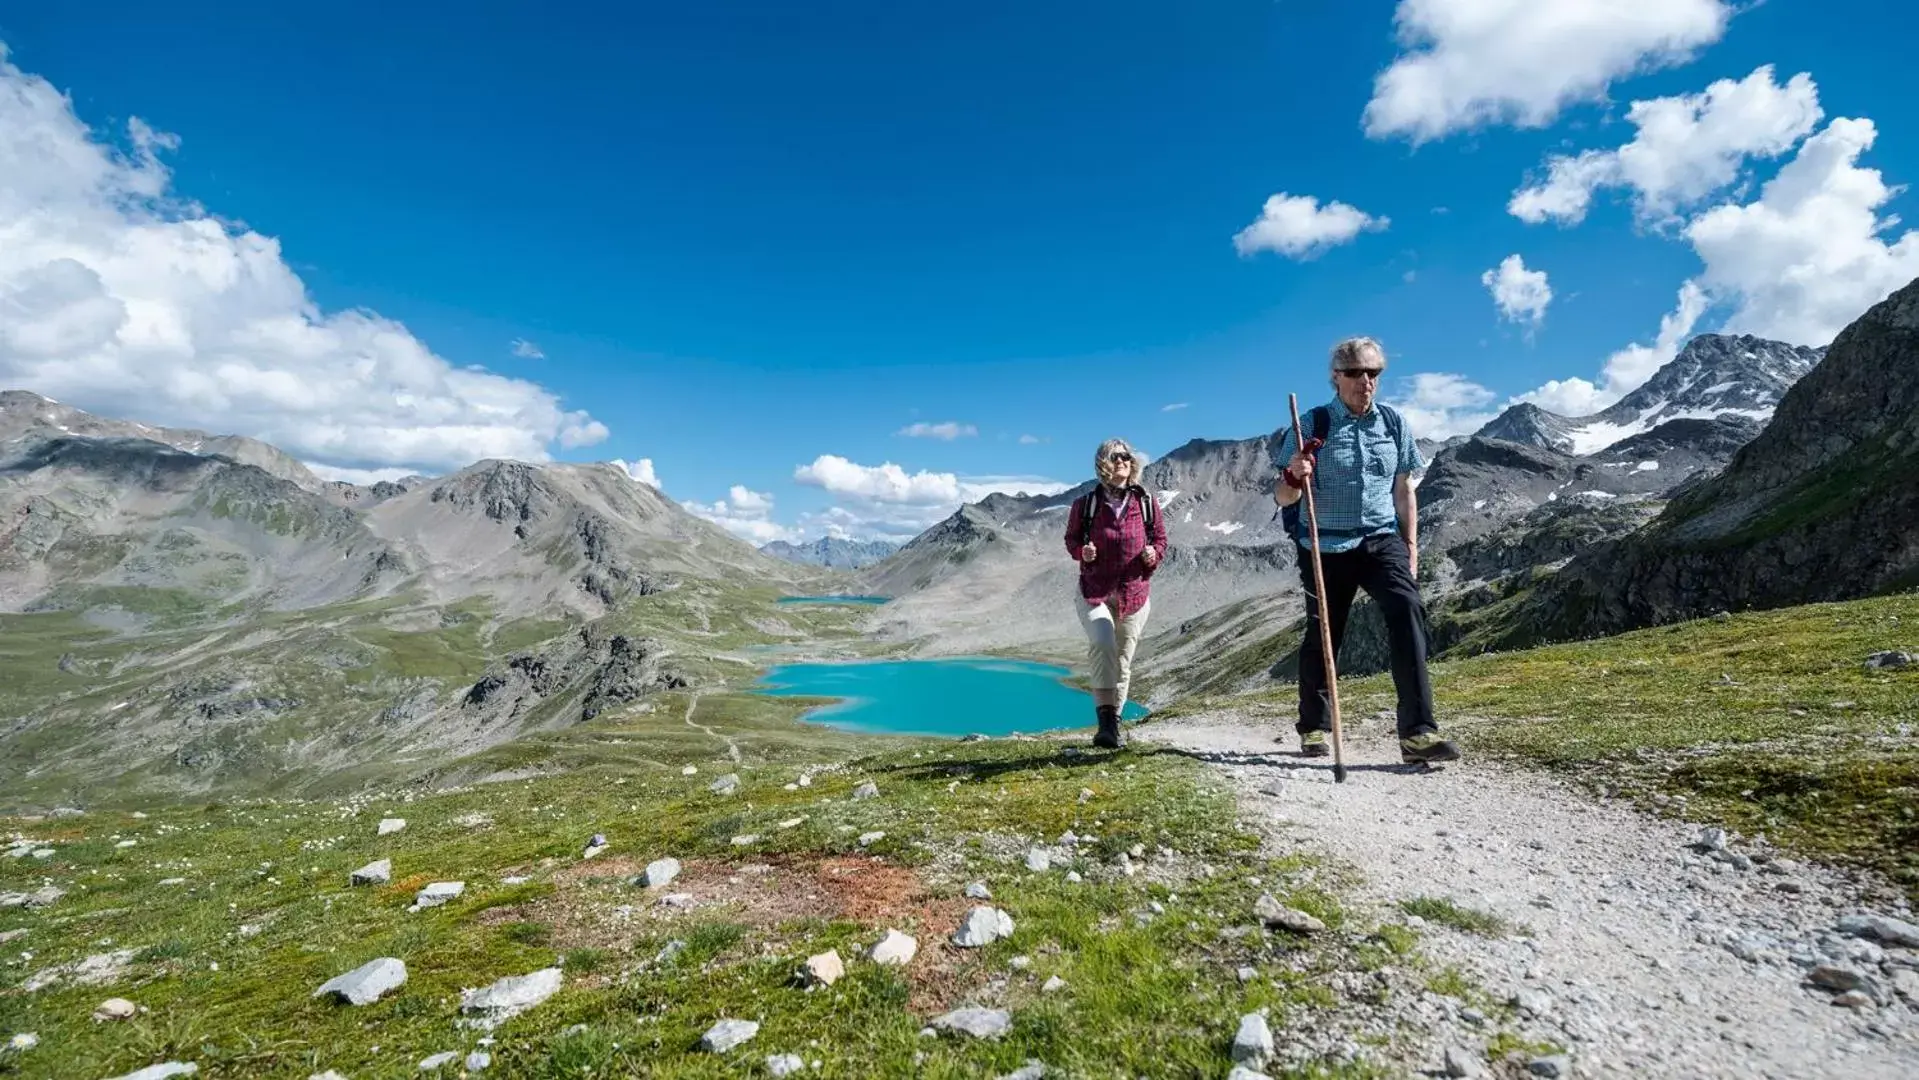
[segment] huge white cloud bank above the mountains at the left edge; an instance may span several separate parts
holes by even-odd
[[[0,46],[0,382],[367,474],[606,437],[391,318],[320,311],[276,240],[173,194],[177,146],[138,119],[111,146]]]

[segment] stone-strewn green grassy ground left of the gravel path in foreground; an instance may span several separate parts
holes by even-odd
[[[760,1074],[773,1053],[817,1061],[816,1076],[1000,1076],[1029,1059],[1067,1074],[1222,1076],[1244,1013],[1270,1007],[1274,1028],[1332,1030],[1368,1009],[1328,990],[1355,978],[1336,973],[1418,971],[1410,930],[1362,925],[1320,867],[1261,852],[1186,758],[854,739],[794,723],[800,702],[785,698],[706,696],[687,723],[687,704],[674,696],[455,767],[564,765],[530,781],[0,819],[0,836],[50,852],[0,857],[0,892],[65,890],[50,907],[0,911],[0,932],[25,930],[0,951],[0,1036],[38,1036],[35,1049],[0,1051],[0,1074],[192,1061],[213,1078],[336,1068],[359,1080],[486,1049],[493,1072],[512,1076]],[[722,773],[741,777],[737,792],[708,788]],[[877,798],[854,798],[864,781]],[[405,829],[376,836],[390,815]],[[1086,838],[1059,848],[1069,829]],[[595,833],[608,848],[583,859]],[[1025,867],[1031,844],[1054,844],[1050,871]],[[1128,850],[1136,875],[1119,869]],[[631,882],[666,856],[683,863],[672,886]],[[391,859],[391,882],[349,886],[376,857]],[[409,911],[434,880],[466,888]],[[1015,928],[961,950],[948,936],[981,904],[963,896],[973,880]],[[1332,932],[1259,930],[1261,892]],[[910,965],[864,959],[887,928],[917,938]],[[115,950],[125,967],[107,982],[23,990]],[[798,986],[800,963],[827,950],[844,978]],[[405,961],[403,988],[363,1007],[311,998],[376,957]],[[1242,980],[1242,965],[1255,976]],[[459,1026],[462,990],[547,967],[560,969],[560,992],[495,1042]],[[1055,976],[1063,988],[1044,990]],[[1420,978],[1472,996],[1457,973]],[[109,996],[142,1011],[90,1021]],[[1011,1032],[921,1036],[963,1003],[1009,1009]],[[1501,1007],[1480,1003],[1499,1024]],[[739,1051],[700,1051],[722,1019],[762,1026]],[[1368,1057],[1384,1053],[1366,1044]],[[1380,1072],[1328,1063],[1315,1074]]]

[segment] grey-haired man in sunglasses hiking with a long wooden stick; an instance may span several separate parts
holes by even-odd
[[[1433,691],[1426,673],[1426,608],[1420,602],[1420,514],[1412,470],[1424,466],[1405,418],[1374,401],[1386,349],[1372,338],[1349,338],[1332,349],[1336,395],[1301,416],[1307,445],[1291,428],[1280,439],[1284,460],[1272,487],[1286,528],[1299,545],[1299,579],[1307,593],[1307,633],[1299,646],[1299,750],[1307,758],[1332,752],[1326,660],[1320,654],[1318,602],[1307,522],[1299,514],[1313,483],[1318,518],[1320,572],[1334,660],[1345,639],[1353,597],[1364,589],[1386,618],[1393,648],[1393,689],[1399,691],[1399,756],[1414,762],[1458,760],[1458,746],[1439,737]]]

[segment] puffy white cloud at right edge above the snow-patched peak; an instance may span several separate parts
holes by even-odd
[[[1698,282],[1733,303],[1725,330],[1825,345],[1892,290],[1919,278],[1919,232],[1890,244],[1896,217],[1879,217],[1896,192],[1861,169],[1873,146],[1869,119],[1838,117],[1746,205],[1719,205],[1685,228],[1706,265]]]

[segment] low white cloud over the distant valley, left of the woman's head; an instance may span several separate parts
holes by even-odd
[[[831,520],[852,537],[910,537],[946,518],[961,503],[977,503],[992,493],[1054,495],[1073,487],[1040,476],[960,476],[954,472],[906,472],[898,464],[860,464],[839,455],[819,455],[793,470],[793,480],[835,497]],[[802,520],[802,529],[823,520]]]

